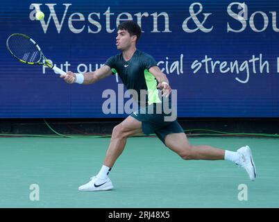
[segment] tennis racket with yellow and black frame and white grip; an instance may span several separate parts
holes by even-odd
[[[54,66],[47,60],[40,46],[31,37],[21,33],[14,33],[8,37],[6,45],[10,54],[20,62],[29,65],[44,65],[58,72],[60,75],[66,75],[65,71]]]

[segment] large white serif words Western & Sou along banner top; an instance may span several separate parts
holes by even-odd
[[[111,12],[110,7],[108,7],[105,12],[91,12],[88,16],[83,15],[81,12],[74,12],[71,15],[67,15],[67,12],[69,11],[69,7],[72,5],[71,3],[63,3],[62,5],[65,6],[65,9],[62,13],[58,13],[58,15],[62,14],[62,19],[59,18],[56,15],[56,10],[54,6],[56,6],[56,3],[31,3],[29,6],[29,9],[32,11],[29,14],[29,18],[31,21],[35,20],[35,12],[37,10],[41,10],[41,6],[47,6],[49,8],[49,18],[47,19],[47,23],[45,22],[44,19],[40,20],[40,24],[42,25],[44,33],[47,33],[47,29],[49,28],[51,24],[51,20],[53,20],[56,30],[58,33],[62,30],[62,26],[64,24],[68,24],[69,30],[72,33],[82,33],[83,31],[87,31],[87,33],[100,33],[102,31],[102,25],[101,21],[105,21],[105,31],[107,33],[113,33],[116,31],[117,26],[119,25],[120,22],[127,21],[127,20],[132,20],[133,16],[135,16],[135,20],[139,26],[142,27],[142,17],[153,17],[153,30],[150,31],[151,33],[171,33],[171,30],[169,28],[169,23],[170,23],[170,18],[169,14],[167,12],[137,12],[135,14],[131,14],[129,12],[120,12],[118,15],[115,15],[114,12]],[[198,10],[194,10],[194,6],[198,6]],[[233,6],[237,6],[237,10],[233,9]],[[183,24],[181,24],[182,29],[185,33],[195,33],[196,31],[200,30],[203,33],[210,33],[213,30],[212,24],[207,24],[207,27],[205,27],[205,22],[207,22],[208,17],[212,15],[212,13],[202,13],[203,10],[203,5],[198,2],[194,2],[189,6],[189,17],[186,17],[183,21]],[[47,12],[47,10],[42,10],[44,12]],[[232,24],[227,22],[227,32],[233,32],[233,33],[242,33],[245,31],[247,27],[247,23],[250,26],[251,30],[260,33],[263,31],[266,31],[269,22],[271,23],[272,29],[275,32],[279,32],[279,28],[277,28],[277,12],[275,11],[269,11],[267,12],[262,12],[262,11],[255,11],[252,12],[250,17],[248,17],[248,6],[246,3],[240,3],[240,2],[232,2],[228,5],[227,7],[227,13],[228,15],[233,18],[237,23],[240,23],[240,27],[237,26],[237,28],[233,28]],[[202,14],[203,18],[199,20],[197,15]],[[101,17],[101,15],[104,16]],[[116,16],[116,19],[114,22],[112,22],[112,16]],[[66,16],[68,18],[68,21],[65,22]],[[114,16],[114,17],[115,17]],[[85,17],[87,17],[88,21],[85,21]],[[94,19],[93,19],[94,17]],[[159,19],[162,17],[162,19]],[[257,18],[260,18],[257,21],[257,24],[255,24],[255,21]],[[269,18],[270,17],[270,18]],[[96,19],[96,20],[95,20]],[[59,22],[60,21],[60,22]],[[150,21],[150,19],[146,19],[146,21]],[[188,27],[188,22],[194,22],[196,28],[189,28]],[[88,23],[87,28],[86,23]],[[161,24],[162,23],[162,24]],[[177,24],[176,24],[177,25]],[[224,27],[226,24],[224,25]],[[79,28],[77,28],[79,27]],[[164,27],[164,30],[160,31],[158,27]],[[144,33],[144,31],[142,30]]]

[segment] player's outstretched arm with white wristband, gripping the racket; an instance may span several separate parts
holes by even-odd
[[[80,83],[84,85],[96,83],[102,78],[108,77],[112,74],[112,71],[108,65],[104,65],[100,69],[92,72],[85,72],[84,74],[74,74],[72,71],[68,71],[66,76],[60,76],[64,78],[66,83]]]

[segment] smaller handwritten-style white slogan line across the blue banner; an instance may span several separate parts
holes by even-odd
[[[157,65],[164,74],[184,74],[183,71],[183,54],[180,54],[179,60],[172,60],[169,56],[165,57],[165,60],[160,60]],[[275,58],[277,72],[279,73],[279,57]],[[51,62],[51,60],[50,60]],[[187,64],[188,62],[186,62]],[[262,53],[259,56],[252,55],[248,60],[233,60],[233,61],[220,61],[214,60],[213,58],[205,55],[201,60],[194,60],[189,62],[191,64],[190,69],[192,69],[192,74],[237,74],[235,80],[239,83],[248,83],[250,80],[251,74],[270,74],[270,64],[268,60],[263,59]],[[75,64],[74,67],[68,61],[65,61],[61,64],[54,64],[63,71],[74,71],[78,73],[84,73],[87,71],[95,71],[99,69],[104,64]],[[71,68],[70,68],[71,67]],[[47,71],[49,70],[49,71]],[[42,74],[53,74],[53,70],[42,66]],[[189,74],[189,71],[187,72]],[[216,76],[216,75],[214,75]],[[119,83],[118,74],[115,75],[115,81]]]

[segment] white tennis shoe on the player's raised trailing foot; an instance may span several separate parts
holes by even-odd
[[[252,157],[251,148],[249,146],[243,146],[242,148],[239,148],[237,150],[237,153],[239,153],[240,157],[238,162],[236,162],[236,164],[246,170],[250,180],[252,181],[255,180],[256,169]]]

